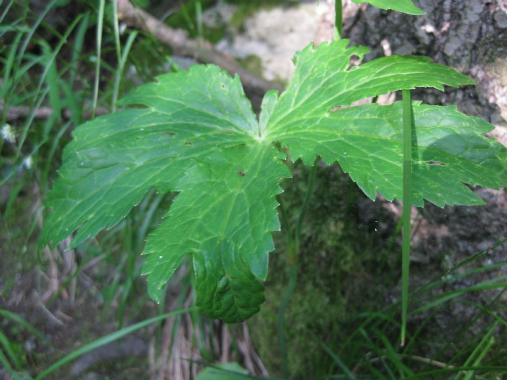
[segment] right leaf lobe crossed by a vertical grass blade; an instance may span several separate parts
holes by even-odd
[[[495,187],[507,183],[507,151],[482,134],[491,125],[467,117],[455,107],[413,103],[416,142],[412,163],[412,202],[426,199],[438,206],[479,205],[462,182]],[[403,198],[402,104],[343,108],[289,129],[280,136],[293,159],[311,165],[316,155],[338,161],[371,199],[377,192],[387,200]],[[308,126],[308,127],[307,127]]]

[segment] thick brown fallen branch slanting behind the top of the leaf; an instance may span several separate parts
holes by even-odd
[[[134,8],[129,0],[118,0],[118,18],[131,27],[152,34],[177,55],[193,57],[204,63],[214,63],[231,75],[238,74],[245,92],[255,106],[260,105],[262,97],[268,90],[282,90],[280,85],[266,81],[248,71],[234,58],[216,50],[209,42],[203,39],[189,39],[185,30],[173,29],[142,9]]]

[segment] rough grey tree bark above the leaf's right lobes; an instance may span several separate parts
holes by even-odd
[[[457,104],[468,115],[500,127],[496,137],[505,144],[507,128],[507,1],[415,0],[423,16],[409,16],[361,7],[346,30],[353,45],[372,48],[367,59],[384,54],[426,55],[469,75],[477,87],[446,94],[425,91],[427,103]],[[383,47],[384,46],[384,47]]]

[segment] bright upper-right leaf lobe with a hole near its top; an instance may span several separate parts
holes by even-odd
[[[270,101],[267,137],[279,140],[288,130],[307,125],[309,118],[327,116],[335,106],[346,106],[389,91],[474,84],[463,74],[427,57],[389,56],[350,69],[350,59],[362,59],[366,47],[347,48],[348,40],[312,45],[296,55],[296,71],[274,105]],[[272,96],[272,95],[271,95]],[[261,113],[261,118],[263,117]]]

